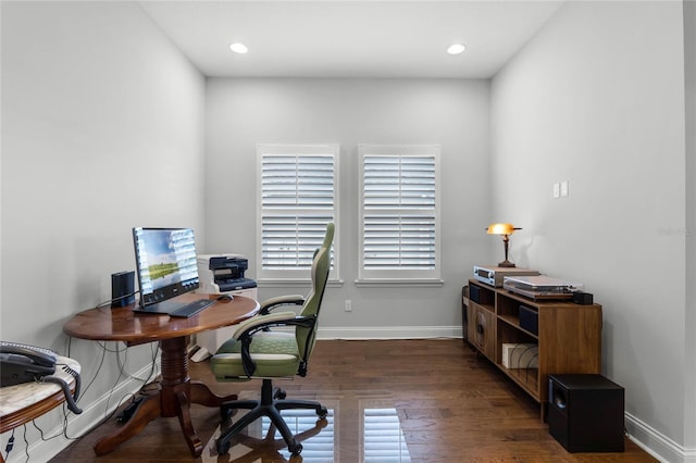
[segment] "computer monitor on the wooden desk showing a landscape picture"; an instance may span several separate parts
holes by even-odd
[[[133,228],[140,309],[166,312],[167,300],[198,289],[191,228]],[[136,308],[138,309],[138,308]]]

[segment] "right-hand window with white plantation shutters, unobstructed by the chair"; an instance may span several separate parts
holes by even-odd
[[[359,151],[359,279],[439,280],[439,146]]]

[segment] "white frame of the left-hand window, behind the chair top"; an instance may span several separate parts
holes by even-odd
[[[339,280],[339,272],[338,272],[338,249],[339,249],[339,239],[338,239],[338,230],[340,229],[338,224],[338,204],[339,204],[339,153],[340,147],[338,143],[257,143],[257,243],[256,243],[256,253],[257,253],[257,274],[256,279],[258,283],[264,283],[266,286],[273,286],[273,284],[278,284],[283,286],[287,286],[288,284],[300,284],[304,285],[307,281],[311,281],[311,272],[309,267],[293,267],[293,268],[264,268],[264,259],[263,259],[263,218],[264,213],[271,214],[281,214],[281,215],[290,215],[293,213],[296,216],[301,215],[301,211],[304,210],[307,214],[311,215],[312,213],[319,213],[321,209],[311,208],[301,208],[298,207],[293,210],[288,209],[274,209],[274,208],[264,208],[263,207],[263,174],[264,174],[264,157],[300,157],[300,155],[331,155],[333,159],[333,209],[331,212],[321,212],[322,215],[332,215],[332,221],[336,225],[336,232],[334,234],[334,241],[332,245],[332,266],[330,270],[328,278],[330,281],[338,281]],[[318,243],[319,246],[319,243]]]

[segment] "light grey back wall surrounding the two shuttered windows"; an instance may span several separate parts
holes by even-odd
[[[338,265],[324,336],[461,333],[461,287],[487,255],[488,80],[225,79],[207,86],[209,252],[254,255],[256,143],[340,145]],[[442,143],[444,287],[357,287],[358,143]],[[253,277],[254,262],[247,274]],[[309,288],[309,287],[308,287]],[[307,289],[308,289],[307,288]],[[261,286],[261,299],[302,292]],[[344,312],[344,300],[352,312]]]

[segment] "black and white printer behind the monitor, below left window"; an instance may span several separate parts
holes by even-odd
[[[241,254],[201,254],[197,262],[200,292],[217,295],[257,287],[256,280],[244,276],[249,261]]]

